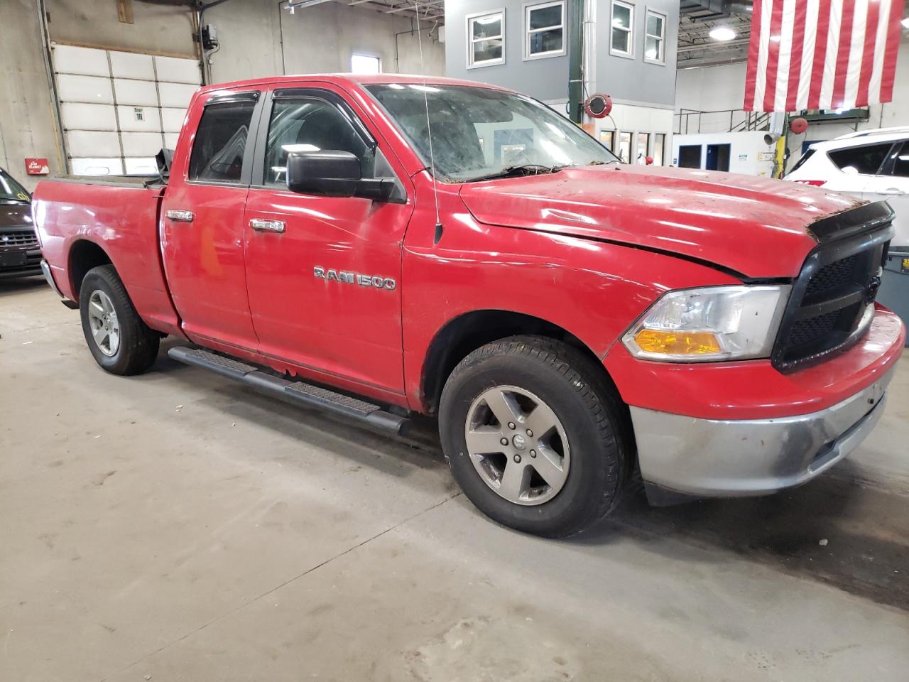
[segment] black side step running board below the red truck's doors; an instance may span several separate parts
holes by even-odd
[[[404,436],[407,427],[410,426],[410,419],[406,416],[393,415],[365,400],[344,396],[327,388],[305,384],[302,381],[287,381],[279,376],[268,374],[258,367],[246,365],[239,360],[201,348],[175,346],[167,351],[167,355],[173,357],[177,362],[204,367],[229,379],[255,386],[265,393],[288,402],[354,419],[376,431]]]

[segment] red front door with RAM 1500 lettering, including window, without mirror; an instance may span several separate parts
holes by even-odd
[[[270,100],[245,214],[259,351],[367,394],[403,395],[401,249],[413,210],[399,179],[405,176],[375,132],[330,90],[279,89]],[[364,177],[395,177],[395,199],[289,191],[288,153],[320,149],[355,154]]]

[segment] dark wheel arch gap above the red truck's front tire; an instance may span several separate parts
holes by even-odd
[[[593,362],[607,385],[614,388],[612,377],[593,349],[564,327],[542,317],[510,310],[474,310],[445,323],[427,348],[420,379],[425,410],[435,414],[446,379],[464,357],[480,346],[518,335],[547,336],[573,346]]]

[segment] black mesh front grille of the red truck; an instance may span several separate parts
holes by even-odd
[[[878,224],[814,249],[793,285],[774,346],[774,366],[783,371],[805,366],[858,340],[858,327],[880,285],[892,232],[889,224]]]

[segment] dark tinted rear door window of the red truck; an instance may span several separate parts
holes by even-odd
[[[189,157],[189,179],[238,183],[255,101],[205,106]]]

